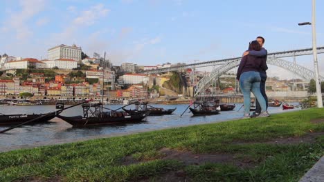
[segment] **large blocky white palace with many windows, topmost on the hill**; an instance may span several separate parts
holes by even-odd
[[[75,61],[81,61],[81,52],[81,48],[77,47],[75,44],[72,46],[61,44],[48,49],[47,54],[49,60],[73,59]]]

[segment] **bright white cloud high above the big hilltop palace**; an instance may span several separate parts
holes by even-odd
[[[96,6],[91,6],[90,10],[81,12],[80,16],[74,19],[73,23],[91,26],[96,20],[105,17],[109,11],[103,4],[97,4]]]

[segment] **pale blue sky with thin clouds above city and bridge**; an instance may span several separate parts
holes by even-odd
[[[46,59],[48,48],[76,45],[120,65],[193,63],[240,57],[262,36],[268,52],[312,47],[308,0],[0,0],[0,54]],[[324,46],[324,1],[316,1],[317,45]],[[287,58],[291,61],[291,58]],[[296,62],[314,69],[312,56]],[[324,75],[324,55],[318,54]],[[209,68],[210,69],[210,68]],[[203,69],[208,70],[208,69]],[[270,66],[269,76],[294,77]]]

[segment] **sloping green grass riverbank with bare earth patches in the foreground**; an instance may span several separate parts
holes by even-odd
[[[15,150],[0,153],[0,181],[298,181],[323,132],[314,108]]]

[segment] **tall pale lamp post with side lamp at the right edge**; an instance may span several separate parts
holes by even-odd
[[[316,96],[317,96],[317,107],[323,108],[321,83],[318,72],[318,61],[317,61],[317,47],[316,47],[316,27],[315,27],[315,0],[312,1],[312,23],[303,22],[298,23],[298,26],[312,25],[312,37],[313,37],[313,57],[314,57],[314,72],[315,72],[315,83],[316,83]]]

